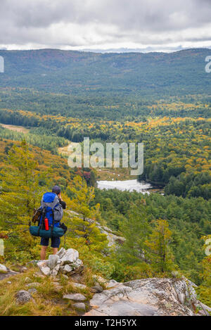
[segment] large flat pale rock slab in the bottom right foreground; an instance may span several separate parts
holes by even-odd
[[[113,282],[112,287],[94,295],[85,316],[193,316],[201,307],[194,286],[187,279]],[[203,306],[208,314],[211,309]]]

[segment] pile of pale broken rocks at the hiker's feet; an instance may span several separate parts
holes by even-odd
[[[82,269],[83,262],[79,259],[79,254],[74,248],[61,248],[56,255],[49,255],[49,260],[37,262],[42,274],[56,277],[58,272],[68,276],[79,272]]]

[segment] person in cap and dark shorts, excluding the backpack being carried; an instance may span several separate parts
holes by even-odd
[[[66,203],[63,201],[61,197],[61,190],[60,186],[53,186],[52,193],[55,194],[55,198],[57,196],[58,200],[58,205],[56,205],[55,211],[60,214],[60,219],[57,220],[54,224],[54,227],[59,227],[60,226],[60,220],[63,217],[63,209],[66,208]],[[49,193],[49,195],[52,195],[52,193]],[[54,196],[53,196],[54,197]],[[55,201],[56,201],[55,199]],[[41,260],[46,259],[46,250],[47,247],[49,246],[49,239],[46,239],[45,237],[41,237],[41,255],[40,258]],[[58,252],[58,248],[60,246],[60,237],[51,237],[51,248],[53,248],[53,254],[56,255]]]

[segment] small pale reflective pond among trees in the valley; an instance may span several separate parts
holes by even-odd
[[[149,190],[153,188],[151,184],[146,182],[139,182],[137,180],[125,181],[97,181],[99,189],[118,189],[121,191],[138,191],[139,193],[150,193]]]

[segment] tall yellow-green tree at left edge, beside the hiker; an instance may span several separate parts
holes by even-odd
[[[15,250],[27,250],[30,246],[28,223],[33,210],[41,200],[41,176],[37,162],[30,153],[27,143],[13,146],[8,151],[7,166],[1,170],[0,226],[8,230],[10,241],[15,243]],[[19,245],[17,241],[19,241]],[[22,243],[21,243],[22,242]]]

